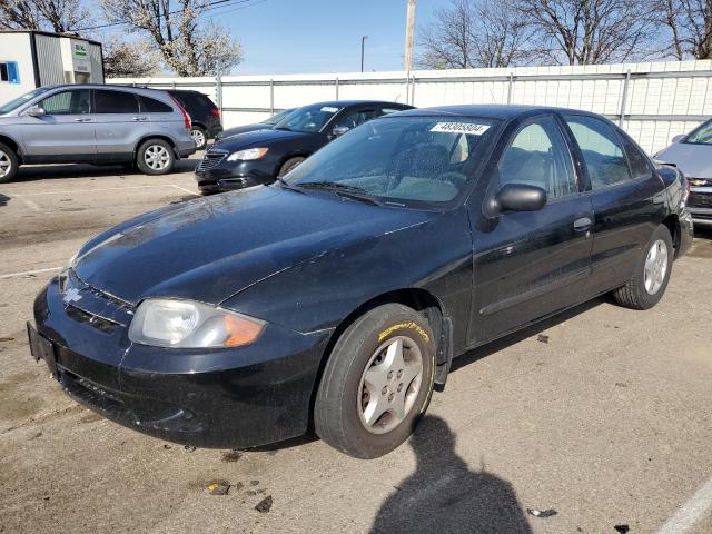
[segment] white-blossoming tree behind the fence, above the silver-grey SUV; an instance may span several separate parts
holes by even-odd
[[[215,23],[202,23],[207,0],[101,0],[109,22],[150,39],[178,76],[229,71],[243,59],[239,43]]]

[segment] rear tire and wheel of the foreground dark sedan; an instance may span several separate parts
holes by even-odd
[[[660,225],[645,246],[631,279],[613,291],[616,303],[631,309],[650,309],[655,306],[668,288],[673,255],[670,230]]]

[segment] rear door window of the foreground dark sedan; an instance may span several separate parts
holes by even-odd
[[[581,148],[594,190],[632,178],[621,140],[610,125],[594,117],[577,115],[564,116],[564,119]]]

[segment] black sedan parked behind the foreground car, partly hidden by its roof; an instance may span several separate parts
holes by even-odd
[[[285,176],[327,142],[357,126],[412,106],[395,102],[339,100],[298,108],[270,129],[224,138],[196,169],[201,192],[218,192]]]

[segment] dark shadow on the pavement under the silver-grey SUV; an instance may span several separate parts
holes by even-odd
[[[170,174],[192,172],[200,162],[198,159],[179,159]],[[108,176],[144,176],[135,168],[127,168],[120,165],[85,165],[85,164],[59,164],[59,165],[30,165],[20,167],[14,181],[37,181],[61,178],[101,178]],[[170,175],[167,175],[170,176]]]

